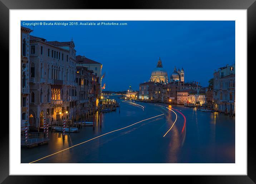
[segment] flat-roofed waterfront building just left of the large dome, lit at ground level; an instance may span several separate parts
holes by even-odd
[[[155,93],[155,83],[153,81],[144,82],[139,85],[139,100],[153,101]]]

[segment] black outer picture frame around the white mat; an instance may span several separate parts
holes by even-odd
[[[246,9],[247,10],[247,66],[255,65],[256,46],[256,2],[255,0],[144,0],[144,1],[88,1],[88,0],[0,0],[0,25],[1,25],[1,53],[9,53],[9,10],[10,9]],[[6,60],[9,59],[8,54]],[[5,60],[5,61],[6,61]],[[251,62],[249,62],[251,61]],[[7,65],[9,68],[9,66]],[[255,68],[255,67],[253,67]],[[9,68],[10,70],[10,68]],[[247,84],[253,83],[253,72],[247,74]],[[5,77],[6,78],[6,77]],[[8,80],[9,82],[9,80]],[[255,91],[249,91],[247,96],[255,97]],[[247,100],[247,99],[244,99]],[[247,101],[248,102],[248,101]],[[244,107],[247,108],[247,107]],[[248,115],[253,108],[248,106]],[[10,112],[9,112],[10,113]],[[244,123],[246,124],[247,119]],[[247,175],[216,175],[216,176],[171,176],[185,179],[192,183],[255,183],[256,182],[256,138],[253,123],[247,121]],[[3,123],[3,122],[2,122]],[[1,131],[0,139],[0,182],[3,183],[48,183],[53,180],[65,181],[65,177],[45,176],[9,176],[9,126],[5,124],[5,131]],[[60,180],[60,177],[62,180]],[[90,177],[87,180],[90,181]],[[98,177],[98,176],[96,176]],[[80,177],[79,177],[80,178]],[[95,178],[95,177],[93,177]],[[107,177],[113,181],[113,177]],[[107,180],[108,180],[107,179]],[[116,179],[116,178],[115,178]],[[147,179],[152,180],[151,177]],[[76,179],[78,181],[78,179]],[[133,182],[134,176],[124,177],[122,183]],[[97,178],[97,182],[100,181]],[[104,181],[106,181],[104,179]],[[112,182],[113,183],[113,182]]]

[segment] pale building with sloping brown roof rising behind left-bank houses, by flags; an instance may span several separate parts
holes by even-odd
[[[81,55],[78,55],[75,57],[76,58],[76,66],[84,66],[84,67],[87,67],[88,70],[92,70],[93,71],[93,74],[99,78],[99,83],[100,83],[100,88],[102,87],[102,83],[101,83],[101,80],[102,80],[102,64],[97,62],[97,61],[94,61],[94,60],[91,60],[89,58],[86,58],[85,56],[81,56]],[[101,93],[100,93],[101,95]]]

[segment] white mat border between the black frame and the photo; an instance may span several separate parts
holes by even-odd
[[[17,114],[20,114],[17,103],[20,102],[17,85],[20,20],[53,20],[53,17],[54,20],[235,20],[237,61],[235,164],[21,164],[20,116],[10,113],[10,175],[247,175],[247,10],[10,10],[9,13],[9,111]]]

